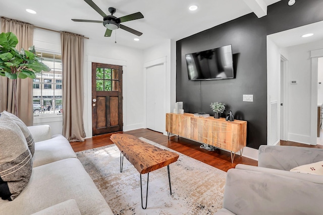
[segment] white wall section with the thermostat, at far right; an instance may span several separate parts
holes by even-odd
[[[288,140],[310,144],[311,59],[310,50],[323,48],[323,40],[287,47],[289,55]],[[317,86],[317,83],[314,83]]]

